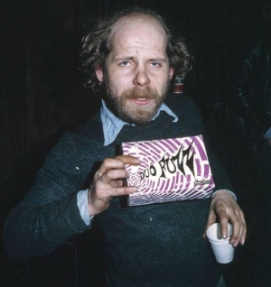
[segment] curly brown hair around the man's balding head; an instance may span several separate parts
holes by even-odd
[[[84,74],[85,87],[93,90],[99,89],[95,70],[98,68],[106,69],[107,55],[111,51],[112,28],[119,19],[133,16],[153,18],[163,26],[168,39],[166,52],[169,65],[174,69],[174,74],[184,77],[192,69],[192,52],[189,46],[183,38],[173,36],[159,14],[151,10],[130,8],[101,21],[89,34],[83,37],[79,69]]]

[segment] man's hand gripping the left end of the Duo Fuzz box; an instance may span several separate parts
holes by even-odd
[[[126,164],[138,165],[140,161],[130,155],[119,155],[102,162],[88,192],[89,216],[106,210],[110,199],[136,191],[135,187],[124,186],[123,181],[129,176],[125,168]]]

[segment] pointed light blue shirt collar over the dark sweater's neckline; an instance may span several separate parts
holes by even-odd
[[[164,111],[169,116],[173,116],[173,123],[178,121],[178,116],[176,116],[173,111],[166,106],[164,103],[159,107],[153,120],[160,115],[160,112]],[[117,134],[121,131],[124,125],[132,125],[121,120],[115,116],[108,108],[104,100],[102,100],[102,105],[100,107],[100,117],[103,125],[104,132],[104,145],[111,144],[115,141]]]

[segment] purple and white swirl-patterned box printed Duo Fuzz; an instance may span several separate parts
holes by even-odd
[[[127,185],[137,187],[129,206],[204,199],[215,187],[201,135],[123,143],[122,150],[141,161],[126,165]]]

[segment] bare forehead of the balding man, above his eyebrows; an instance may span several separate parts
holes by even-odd
[[[165,51],[167,35],[164,27],[152,16],[134,15],[121,18],[111,32],[113,50],[116,48],[150,48]]]

